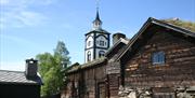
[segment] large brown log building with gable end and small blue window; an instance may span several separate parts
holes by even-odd
[[[193,98],[195,32],[148,18],[118,55],[122,87],[132,98]]]

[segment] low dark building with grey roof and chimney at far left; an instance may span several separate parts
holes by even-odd
[[[40,98],[43,84],[37,74],[38,60],[26,59],[26,70],[0,70],[0,98]]]

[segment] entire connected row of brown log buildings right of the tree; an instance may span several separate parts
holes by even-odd
[[[195,97],[194,31],[150,17],[130,40],[113,39],[104,56],[72,66],[62,98]]]

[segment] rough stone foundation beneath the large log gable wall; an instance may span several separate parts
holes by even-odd
[[[191,87],[176,87],[174,93],[156,93],[159,96],[166,96],[173,94],[171,97],[166,98],[195,98],[195,86]],[[155,95],[156,95],[155,94]],[[165,94],[165,95],[164,95]],[[154,98],[152,88],[131,88],[131,87],[119,87],[119,98]]]

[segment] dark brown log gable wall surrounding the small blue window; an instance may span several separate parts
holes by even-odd
[[[195,42],[187,37],[156,32],[144,46],[138,48],[126,64],[127,86],[187,86],[195,85]],[[153,65],[152,54],[165,52],[165,65]]]

